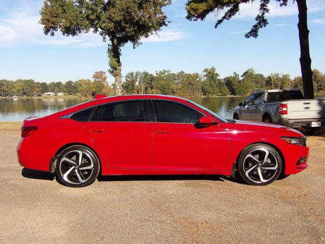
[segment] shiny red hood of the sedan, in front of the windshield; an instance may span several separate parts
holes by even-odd
[[[279,131],[281,131],[281,134],[283,134],[284,136],[304,136],[301,132],[295,129],[269,123],[236,120],[236,123],[234,123],[233,125],[238,130],[276,133],[279,133]]]

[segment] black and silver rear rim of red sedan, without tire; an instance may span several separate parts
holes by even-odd
[[[93,173],[93,160],[82,150],[73,150],[65,154],[59,162],[62,178],[70,184],[82,184],[89,180]]]

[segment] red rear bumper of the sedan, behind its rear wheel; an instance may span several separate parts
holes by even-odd
[[[20,140],[17,147],[18,162],[28,169],[49,172],[51,155],[53,154],[51,147],[24,143],[24,138]]]

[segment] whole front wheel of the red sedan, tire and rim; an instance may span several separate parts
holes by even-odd
[[[264,186],[278,178],[282,161],[278,152],[266,144],[252,144],[242,151],[238,176],[249,185]]]

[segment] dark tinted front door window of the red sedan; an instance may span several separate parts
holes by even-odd
[[[203,116],[197,110],[180,103],[160,100],[152,102],[157,122],[196,124]]]

